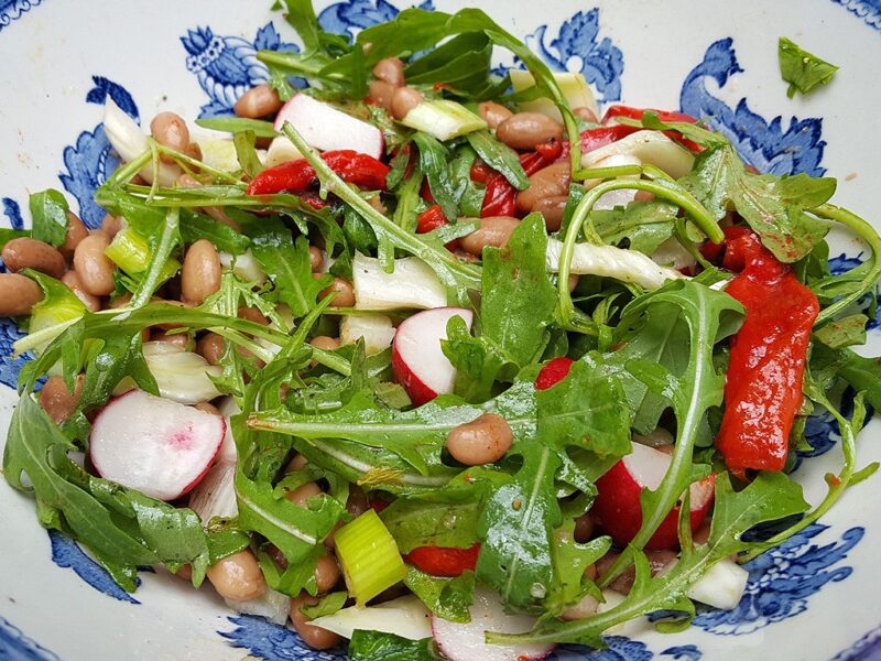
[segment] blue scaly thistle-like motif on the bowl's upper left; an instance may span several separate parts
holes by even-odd
[[[258,51],[300,51],[296,44],[282,42],[272,23],[258,30],[252,41],[219,36],[206,26],[188,30],[181,43],[187,53],[187,71],[196,74],[199,86],[208,95],[209,101],[200,108],[200,118],[230,115],[247,89],[267,80],[267,67],[257,58]]]

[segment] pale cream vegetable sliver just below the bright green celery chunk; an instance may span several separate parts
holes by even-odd
[[[315,618],[309,624],[344,638],[351,638],[356,629],[394,633],[409,640],[422,640],[432,635],[428,610],[413,595],[377,606],[350,606]]]

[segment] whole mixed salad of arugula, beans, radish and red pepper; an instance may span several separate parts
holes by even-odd
[[[835,180],[600,113],[477,9],[352,41],[283,4],[303,51],[260,53],[213,133],[107,100],[100,228],[50,189],[0,237],[33,358],[3,476],[41,524],[316,649],[516,661],[733,608],[742,563],[878,468],[881,237]],[[871,257],[834,274],[835,227]],[[811,506],[818,410],[844,464]]]

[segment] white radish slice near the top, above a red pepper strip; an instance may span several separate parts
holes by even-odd
[[[351,149],[374,159],[382,158],[382,131],[305,94],[294,95],[282,106],[275,117],[275,130],[281,131],[285,121],[316,149]]]

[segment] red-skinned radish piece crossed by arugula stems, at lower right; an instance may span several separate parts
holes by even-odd
[[[667,472],[671,456],[664,452],[633,444],[632,452],[612,466],[597,480],[597,499],[590,509],[600,528],[608,532],[620,546],[626,546],[642,524],[640,494],[643,489],[655,490]],[[690,486],[692,530],[697,530],[707,517],[713,503],[715,475]],[[667,514],[645,544],[646,549],[673,549],[678,545],[679,508]]]

